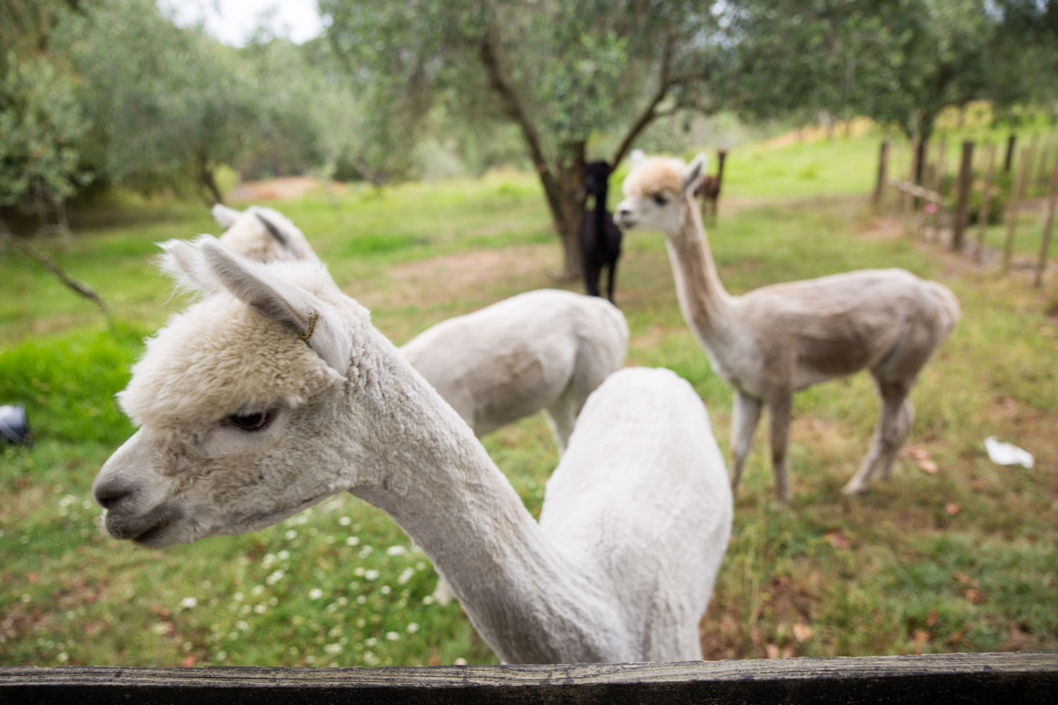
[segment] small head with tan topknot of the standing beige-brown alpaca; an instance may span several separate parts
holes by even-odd
[[[614,222],[623,230],[677,231],[688,198],[706,172],[706,155],[699,153],[690,164],[665,156],[647,159],[642,152],[634,157],[632,171],[621,186],[624,200],[617,204]]]

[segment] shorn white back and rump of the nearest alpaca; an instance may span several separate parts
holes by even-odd
[[[697,624],[731,535],[731,489],[705,405],[670,370],[612,374],[581,411],[540,523],[598,565],[651,661],[700,658]]]

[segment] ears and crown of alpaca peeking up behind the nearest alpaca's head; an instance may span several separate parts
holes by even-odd
[[[250,206],[243,211],[216,204],[214,220],[227,228],[220,236],[225,245],[258,262],[303,259],[318,262],[305,234],[275,208]]]

